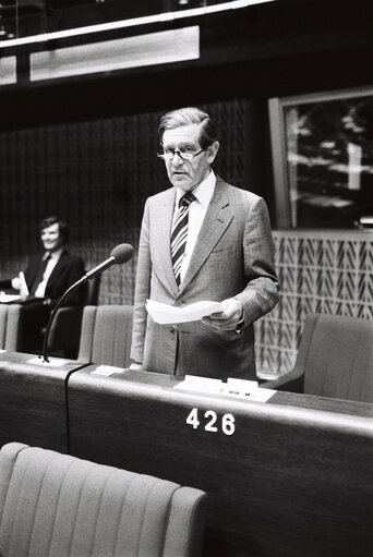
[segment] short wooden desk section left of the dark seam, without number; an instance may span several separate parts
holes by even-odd
[[[71,373],[86,364],[28,363],[36,358],[0,352],[0,446],[20,441],[67,452],[65,382]]]

